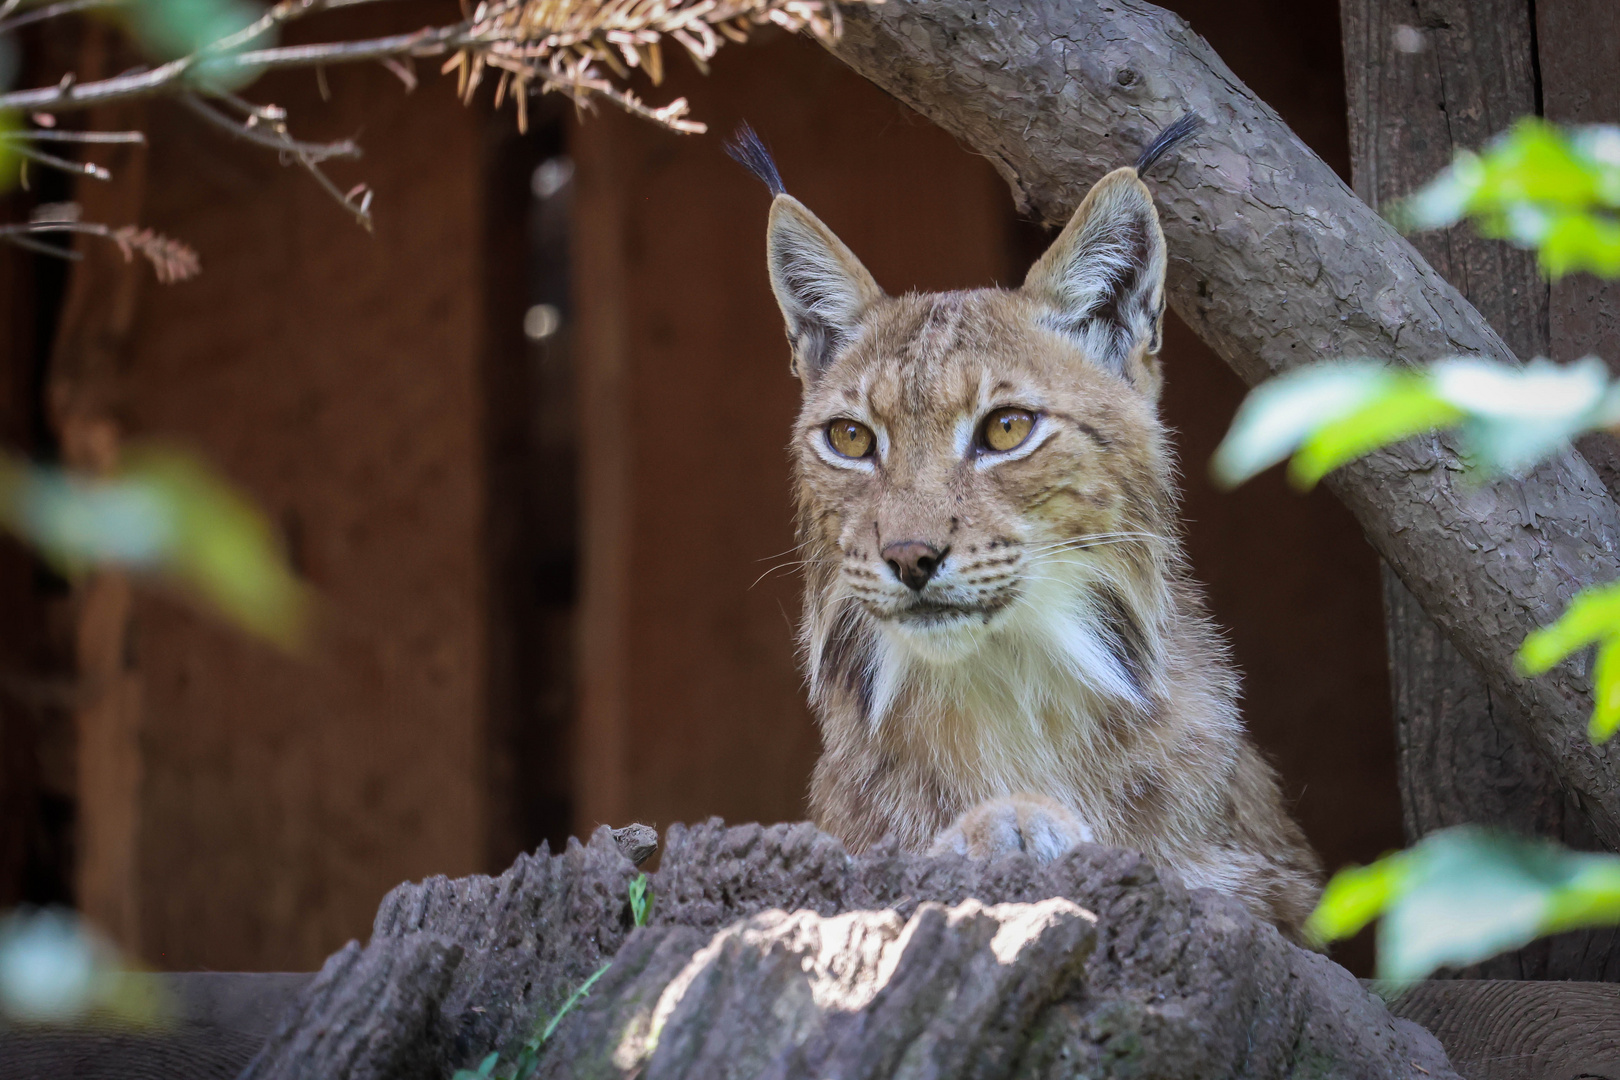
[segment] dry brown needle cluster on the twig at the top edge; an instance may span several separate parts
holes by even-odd
[[[525,102],[538,91],[567,94],[580,108],[601,97],[674,131],[700,133],[706,128],[688,118],[685,99],[651,107],[622,83],[637,68],[654,86],[663,83],[666,37],[706,71],[723,44],[747,40],[757,26],[808,31],[821,40],[842,31],[834,0],[484,0],[470,16],[468,44],[444,70],[457,71],[467,99],[486,68],[497,70],[497,104],[515,99],[520,128],[528,126]]]

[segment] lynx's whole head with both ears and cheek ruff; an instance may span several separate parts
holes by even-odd
[[[904,670],[996,644],[1144,703],[1176,546],[1165,238],[1137,170],[1092,188],[1021,288],[907,296],[773,186],[816,696],[876,721]]]

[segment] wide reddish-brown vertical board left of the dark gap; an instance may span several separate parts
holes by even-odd
[[[120,418],[211,457],[321,594],[305,657],[138,601],[131,827],[143,952],[167,968],[311,968],[399,881],[483,870],[483,118],[447,79],[327,81],[330,104],[311,73],[249,96],[301,138],[363,133],[330,172],[376,188],[376,235],[274,154],[154,110],[144,223],[204,272],[147,290]]]

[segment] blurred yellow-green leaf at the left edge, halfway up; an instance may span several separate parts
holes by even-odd
[[[65,573],[149,573],[277,644],[301,641],[308,593],[269,523],[190,455],[136,447],[105,479],[0,458],[0,525]]]

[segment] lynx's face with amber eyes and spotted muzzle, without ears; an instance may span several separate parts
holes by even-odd
[[[1043,314],[991,290],[885,300],[807,387],[805,512],[841,591],[922,659],[962,659],[1163,533],[1150,400]]]

